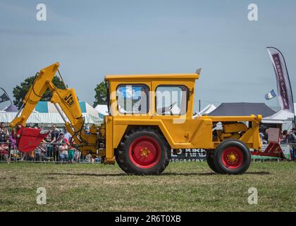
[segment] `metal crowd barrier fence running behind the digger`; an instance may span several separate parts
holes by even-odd
[[[82,156],[75,148],[63,150],[65,143],[40,143],[30,153],[22,153],[15,143],[0,143],[0,162],[52,162],[52,163],[100,163],[100,157]],[[290,160],[296,161],[296,144],[290,145]],[[171,162],[206,161],[206,152],[199,149],[180,149],[180,155],[173,155]],[[276,157],[254,157],[252,162],[279,161]]]

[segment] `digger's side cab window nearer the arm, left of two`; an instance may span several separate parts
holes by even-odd
[[[147,85],[118,85],[116,95],[118,112],[146,114],[149,111],[149,88]]]

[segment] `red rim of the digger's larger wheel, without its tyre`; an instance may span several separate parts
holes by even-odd
[[[128,150],[132,163],[142,169],[149,169],[156,165],[161,158],[161,146],[150,136],[136,138]]]

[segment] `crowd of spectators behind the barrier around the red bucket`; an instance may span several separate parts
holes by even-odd
[[[38,129],[38,125],[33,126]],[[64,129],[57,129],[53,124],[49,135],[44,138],[40,145],[29,153],[20,153],[16,146],[16,138],[10,134],[4,122],[0,124],[0,160],[11,161],[52,161],[52,162],[98,162],[91,155],[83,160],[80,150],[73,147],[72,136]]]

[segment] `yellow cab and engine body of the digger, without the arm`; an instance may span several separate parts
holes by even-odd
[[[209,117],[193,118],[193,104],[195,96],[195,80],[199,74],[155,74],[155,75],[108,75],[105,80],[109,83],[110,116],[106,121],[112,121],[110,139],[107,136],[106,155],[111,160],[113,150],[121,142],[128,126],[157,126],[164,134],[166,141],[173,149],[203,148],[214,149],[226,138],[237,138],[249,148],[261,148],[259,138],[259,123],[261,115],[244,117]],[[118,112],[116,88],[123,84],[144,84],[149,92],[149,111],[147,114],[121,114]],[[159,115],[155,107],[155,90],[159,85],[185,85],[190,94],[187,98],[187,112],[185,115]],[[242,121],[249,123],[249,126]],[[213,125],[221,122],[223,130],[217,131],[213,138]],[[108,129],[107,129],[108,131]]]

